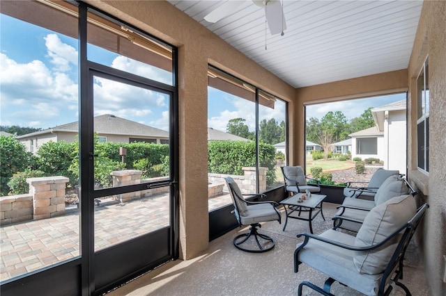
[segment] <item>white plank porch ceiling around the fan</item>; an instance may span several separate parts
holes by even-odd
[[[266,32],[263,8],[249,0],[215,24],[203,17],[226,1],[169,2],[295,88],[406,69],[422,8],[422,1],[285,0],[281,36]]]

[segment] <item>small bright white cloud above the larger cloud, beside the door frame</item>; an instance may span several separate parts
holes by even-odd
[[[77,65],[77,50],[74,47],[63,43],[56,34],[48,34],[43,39],[56,71],[67,72],[71,69],[70,63]]]

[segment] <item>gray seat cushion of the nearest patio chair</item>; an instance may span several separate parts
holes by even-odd
[[[320,236],[346,245],[355,243],[354,236],[332,229],[324,231]],[[353,256],[351,250],[310,239],[300,250],[298,260],[365,295],[376,295],[382,274],[360,274],[353,263]]]

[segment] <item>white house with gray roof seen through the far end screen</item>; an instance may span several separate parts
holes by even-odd
[[[352,158],[379,158],[387,170],[406,174],[406,100],[371,109],[375,126],[351,133]]]

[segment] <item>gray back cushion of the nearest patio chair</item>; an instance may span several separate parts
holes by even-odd
[[[383,204],[375,206],[365,217],[360,230],[357,231],[355,246],[369,247],[382,242],[412,219],[416,211],[417,206],[412,195],[394,197]],[[377,249],[367,252],[355,251],[353,262],[357,271],[362,274],[380,274],[384,272],[400,237],[394,237],[393,240]]]

